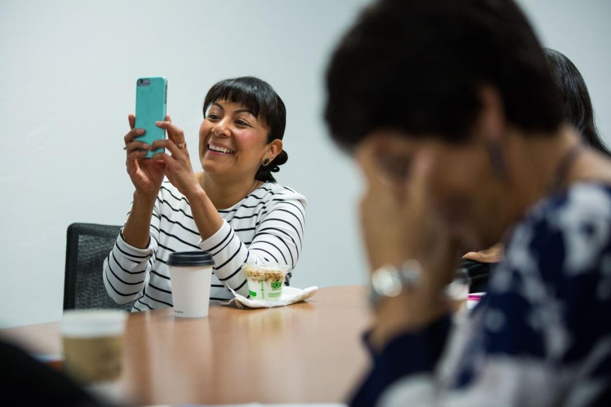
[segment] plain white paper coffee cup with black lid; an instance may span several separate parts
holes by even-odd
[[[177,251],[170,253],[167,265],[170,268],[174,316],[206,317],[214,265],[212,255],[208,251]]]

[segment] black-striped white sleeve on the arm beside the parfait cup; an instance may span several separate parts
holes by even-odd
[[[305,199],[279,198],[270,201],[267,209],[248,247],[225,221],[213,236],[200,242],[200,248],[214,258],[218,279],[244,297],[248,296],[244,263],[259,259],[287,264],[292,270],[301,254]]]

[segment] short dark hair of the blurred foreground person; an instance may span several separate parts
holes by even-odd
[[[563,120],[543,48],[511,0],[377,1],[335,49],[326,85],[325,118],[348,151],[379,128],[462,142],[482,85],[525,132]]]

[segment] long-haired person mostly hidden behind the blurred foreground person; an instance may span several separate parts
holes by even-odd
[[[554,75],[554,81],[560,90],[565,120],[579,131],[586,145],[606,156],[611,156],[611,152],[596,129],[594,109],[584,77],[575,64],[562,52],[551,48],[545,48],[544,51]],[[486,290],[490,270],[502,258],[503,246],[501,243],[485,250],[470,251],[463,256],[460,267],[467,270],[471,281],[471,292]]]

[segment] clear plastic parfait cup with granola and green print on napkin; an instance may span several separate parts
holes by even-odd
[[[282,297],[284,278],[290,267],[272,262],[246,263],[248,291],[252,300],[277,301]]]

